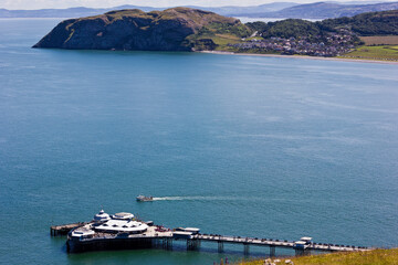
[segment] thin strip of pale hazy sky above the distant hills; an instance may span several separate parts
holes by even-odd
[[[135,4],[146,7],[176,7],[176,6],[256,6],[268,2],[318,2],[322,0],[0,0],[0,8],[6,9],[44,9],[44,8],[112,8],[122,4]],[[339,0],[347,1],[347,0]],[[385,0],[396,1],[396,0]]]

